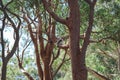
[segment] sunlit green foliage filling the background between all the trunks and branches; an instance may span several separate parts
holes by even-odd
[[[3,0],[4,4],[8,3],[8,0]],[[69,7],[65,0],[53,0],[51,9],[62,18],[66,18],[69,16]],[[88,16],[89,16],[89,6],[84,0],[79,0],[80,5],[80,15],[81,15],[81,26],[80,26],[80,34],[83,34],[86,31],[88,26]],[[43,20],[43,32],[45,32],[45,27],[49,26],[49,14],[44,10],[43,5],[41,4],[41,0],[13,0],[11,4],[8,5],[8,9],[10,11],[15,12],[17,14],[20,13],[20,7],[23,7],[27,10],[28,14],[34,18],[36,17],[35,10],[39,9],[42,20]],[[56,8],[55,8],[56,7]],[[1,11],[0,11],[0,14]],[[11,16],[11,15],[10,15]],[[120,76],[118,75],[117,69],[117,58],[111,58],[103,53],[100,50],[108,52],[108,54],[116,55],[116,42],[120,42],[120,1],[119,0],[98,0],[95,7],[95,21],[93,26],[93,31],[96,33],[92,33],[91,39],[100,40],[101,42],[96,44],[89,45],[86,56],[86,64],[91,69],[109,77],[111,80],[119,80]],[[26,26],[24,22],[23,26]],[[37,23],[37,22],[36,22]],[[21,29],[21,33],[27,35],[27,29],[23,27]],[[43,33],[44,34],[44,33]],[[64,35],[68,35],[68,29],[65,25],[62,25],[56,22],[56,36],[61,37]],[[44,35],[45,36],[45,35]],[[27,35],[29,37],[29,35]],[[108,38],[107,38],[108,37]],[[21,46],[24,46],[26,41],[26,36],[24,36],[21,40]],[[80,44],[82,44],[82,40]],[[33,46],[33,44],[31,44]],[[23,67],[26,71],[28,71],[35,80],[38,79],[37,68],[35,64],[35,58],[31,57],[35,54],[30,53],[30,49],[25,52],[24,56],[24,64]],[[21,48],[22,50],[22,48]],[[29,54],[30,53],[30,54]],[[56,55],[57,48],[55,48],[54,53]],[[61,60],[63,59],[64,51],[61,51],[60,56],[54,61],[53,71],[57,69]],[[68,56],[67,56],[68,58]],[[2,65],[0,60],[0,66]],[[54,80],[72,80],[71,78],[71,63],[67,61],[58,71]],[[18,62],[15,57],[11,59],[8,64],[7,69],[7,80],[26,80],[27,78],[23,75],[23,73],[18,68]],[[89,80],[98,80],[92,74],[89,73]]]

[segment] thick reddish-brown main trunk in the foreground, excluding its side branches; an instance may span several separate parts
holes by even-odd
[[[68,18],[68,28],[70,34],[70,53],[72,63],[73,80],[87,80],[87,70],[85,67],[85,53],[80,52],[80,11],[78,0],[68,0],[70,7],[70,17]]]

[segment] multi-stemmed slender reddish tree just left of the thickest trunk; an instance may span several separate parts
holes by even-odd
[[[65,59],[68,46],[61,46],[58,44],[57,47],[59,49],[56,55],[53,54],[54,48],[56,47],[55,44],[58,41],[55,33],[56,21],[52,20],[51,16],[46,14],[46,12],[42,9],[43,7],[41,6],[40,1],[16,1],[16,3],[18,2],[20,4],[20,12],[22,13],[20,17],[23,18],[25,24],[23,27],[28,29],[35,49],[35,60],[39,79],[53,80],[53,77],[57,74],[63,63],[68,60]],[[61,49],[65,51],[65,54],[62,62],[58,65],[58,68],[53,71],[52,65],[59,57]],[[24,54],[22,54],[22,56],[23,55]],[[21,60],[20,56],[17,56],[17,58],[19,68],[28,79],[33,80],[34,78],[27,71],[25,71],[22,65],[23,59]]]

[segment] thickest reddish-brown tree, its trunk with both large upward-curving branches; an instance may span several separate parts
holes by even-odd
[[[93,26],[93,15],[94,15],[94,6],[97,0],[85,0],[89,5],[89,24],[88,28],[85,32],[85,36],[83,39],[83,45],[80,50],[79,40],[80,38],[80,8],[78,0],[68,0],[66,3],[68,4],[68,8],[70,10],[69,16],[66,16],[66,19],[62,19],[56,15],[50,9],[50,3],[46,0],[42,0],[43,5],[47,12],[54,18],[56,21],[67,26],[69,30],[69,48],[71,55],[71,63],[72,63],[72,74],[73,80],[87,80],[87,69],[85,66],[85,54],[87,50],[87,46],[90,42],[90,34]]]

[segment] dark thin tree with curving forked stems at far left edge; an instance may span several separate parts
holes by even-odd
[[[20,25],[21,25],[21,20],[19,18],[18,15],[16,15],[15,13],[11,12],[9,9],[8,9],[8,5],[11,3],[12,1],[8,2],[6,5],[4,5],[4,3],[2,1],[0,1],[0,10],[1,10],[1,46],[2,46],[2,77],[1,79],[2,80],[6,80],[6,70],[7,70],[7,64],[8,64],[8,61],[10,60],[10,58],[14,55],[17,47],[18,47],[18,43],[19,43],[19,28],[20,28]],[[9,17],[9,14],[11,14],[13,16],[13,18],[11,19]],[[13,20],[14,19],[14,20]],[[18,22],[18,23],[15,23],[15,20]],[[14,43],[12,45],[12,48],[11,50],[9,50],[9,39],[4,40],[4,28],[6,27],[11,27],[13,30],[14,30],[14,34],[13,34],[13,37],[14,37]],[[7,42],[8,41],[8,42]],[[7,44],[6,44],[7,43]],[[6,46],[5,46],[6,44]],[[5,50],[5,48],[7,48],[7,50]]]

